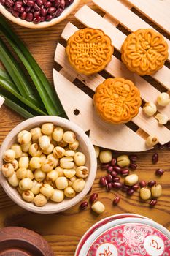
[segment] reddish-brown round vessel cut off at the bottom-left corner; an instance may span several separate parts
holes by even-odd
[[[4,227],[0,230],[0,256],[54,256],[47,241],[23,227]]]

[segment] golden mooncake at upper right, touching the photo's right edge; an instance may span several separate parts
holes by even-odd
[[[139,29],[126,37],[122,45],[122,61],[138,75],[152,75],[168,58],[168,45],[153,29]]]

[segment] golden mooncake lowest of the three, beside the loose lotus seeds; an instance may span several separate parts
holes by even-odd
[[[105,121],[122,124],[138,114],[142,100],[131,80],[109,78],[96,88],[93,103]]]

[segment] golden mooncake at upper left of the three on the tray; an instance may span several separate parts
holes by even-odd
[[[80,29],[66,46],[69,63],[84,75],[103,70],[111,61],[113,51],[111,39],[100,29]]]

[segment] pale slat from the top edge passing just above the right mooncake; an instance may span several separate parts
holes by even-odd
[[[93,0],[93,3],[96,4],[101,10],[107,12],[114,20],[117,20],[117,23],[122,24],[126,29],[130,31],[136,31],[139,28],[142,29],[153,29],[148,23],[146,23],[142,18],[136,15],[131,10],[128,10],[124,4],[121,4],[117,0]],[[165,41],[169,45],[169,39],[164,37]],[[170,61],[170,54],[169,54]]]

